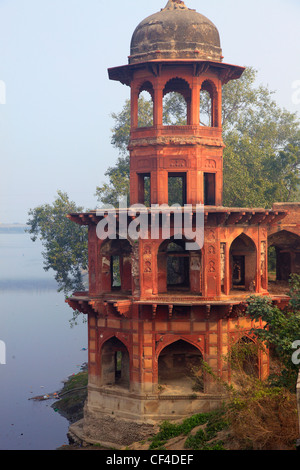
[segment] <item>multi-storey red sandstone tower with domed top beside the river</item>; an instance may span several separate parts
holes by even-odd
[[[111,80],[131,89],[130,205],[147,202],[148,230],[138,239],[103,240],[97,226],[104,215],[70,214],[89,230],[89,291],[68,300],[88,317],[88,399],[84,420],[71,427],[77,437],[128,444],[157,421],[218,406],[216,384],[199,373],[195,383],[191,371],[205,361],[230,381],[224,357],[235,342],[250,340],[253,324],[241,313],[249,293],[268,294],[268,225],[285,211],[222,205],[222,86],[243,70],[223,62],[216,27],[179,0],[142,21],[128,64],[109,69]],[[143,91],[153,103],[148,127],[139,126]],[[207,126],[200,113],[203,91],[211,104]],[[184,125],[164,124],[169,93],[184,98]],[[196,207],[204,205],[199,249],[187,249],[183,224],[172,213],[158,216],[153,237],[150,206],[168,205],[172,184],[172,202],[192,207],[194,228]],[[129,227],[135,220],[129,209],[116,211],[117,234],[121,221]],[[257,358],[257,366],[266,377],[267,355]]]

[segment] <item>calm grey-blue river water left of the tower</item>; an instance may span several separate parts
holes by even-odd
[[[25,233],[0,233],[0,450],[52,450],[67,444],[69,422],[53,401],[87,362],[87,327],[71,327],[72,310],[43,270],[42,246]],[[3,356],[3,353],[2,353]]]

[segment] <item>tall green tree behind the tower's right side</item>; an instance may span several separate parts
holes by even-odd
[[[223,87],[224,204],[270,207],[299,199],[300,127],[247,68]]]

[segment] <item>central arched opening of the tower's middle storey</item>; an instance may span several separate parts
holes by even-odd
[[[185,243],[172,237],[161,244],[157,255],[159,293],[201,293],[201,250],[186,250]]]

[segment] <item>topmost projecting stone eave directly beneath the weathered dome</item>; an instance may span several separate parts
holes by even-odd
[[[151,60],[149,62],[139,62],[136,64],[121,65],[119,67],[111,67],[108,69],[108,76],[110,80],[116,80],[123,85],[130,86],[132,77],[135,71],[145,70],[150,71],[153,76],[159,76],[162,69],[169,66],[182,66],[189,65],[193,68],[194,76],[200,76],[206,72],[217,73],[223,85],[230,80],[237,80],[243,74],[245,67],[238,65],[225,64],[223,62],[207,61],[207,60],[193,60],[193,59],[177,59],[177,60]]]

